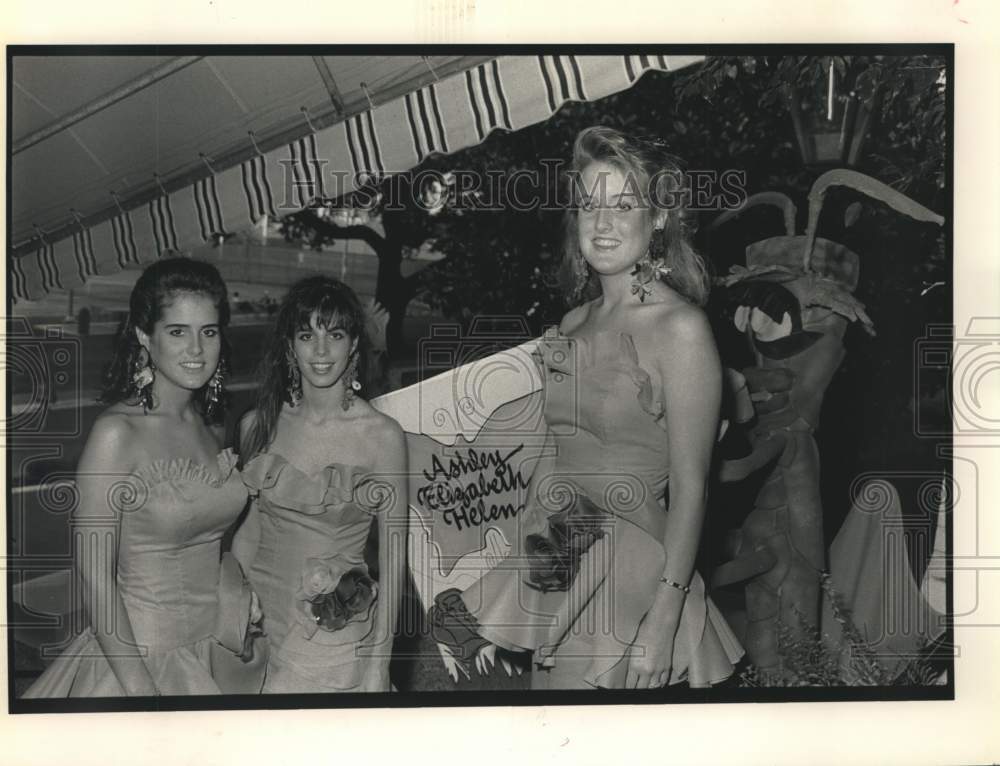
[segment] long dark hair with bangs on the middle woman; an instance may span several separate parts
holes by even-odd
[[[286,402],[291,404],[288,383],[291,378],[288,351],[295,333],[309,329],[309,320],[317,315],[317,324],[326,329],[339,328],[351,340],[357,340],[357,379],[365,382],[367,357],[365,312],[354,291],[339,279],[317,275],[292,285],[278,307],[278,317],[268,337],[257,379],[256,417],[245,435],[241,435],[242,463],[265,451],[274,438],[274,429]]]

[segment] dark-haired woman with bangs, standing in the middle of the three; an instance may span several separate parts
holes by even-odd
[[[389,691],[404,566],[406,443],[363,391],[365,315],[326,276],[282,300],[240,424],[254,498],[236,533],[271,644],[265,693]],[[377,579],[364,558],[378,530]]]

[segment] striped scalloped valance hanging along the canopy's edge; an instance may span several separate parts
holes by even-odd
[[[80,222],[66,236],[38,237],[9,259],[11,295],[37,300],[98,275],[193,249],[264,215],[300,210],[317,197],[349,193],[357,179],[419,165],[551,117],[568,101],[593,101],[634,85],[648,71],[673,71],[703,56],[501,56],[432,82],[191,185]],[[335,173],[336,171],[336,173]],[[333,179],[337,179],[336,188]],[[63,230],[60,230],[63,231]],[[23,252],[23,246],[19,249]]]

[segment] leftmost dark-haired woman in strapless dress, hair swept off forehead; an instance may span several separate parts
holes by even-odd
[[[26,697],[222,691],[221,542],[247,498],[222,449],[228,321],[226,285],[208,263],[168,258],[136,281],[101,396],[109,406],[77,468],[90,626]]]

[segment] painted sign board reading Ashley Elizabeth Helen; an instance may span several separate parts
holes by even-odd
[[[406,556],[425,616],[442,594],[466,590],[520,550],[528,488],[547,450],[534,347],[492,354],[372,402],[406,432]],[[482,661],[435,643],[456,682]]]

